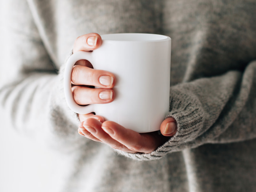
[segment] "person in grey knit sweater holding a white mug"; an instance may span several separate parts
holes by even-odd
[[[1,7],[1,112],[12,128],[73,157],[55,191],[255,191],[254,1],[10,0]],[[123,32],[172,38],[161,135],[66,104],[72,46],[93,51],[99,34]],[[86,60],[73,68],[80,105],[112,102],[114,86],[111,72]]]

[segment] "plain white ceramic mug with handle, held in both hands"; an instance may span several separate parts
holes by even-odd
[[[64,92],[68,106],[78,114],[95,112],[136,132],[160,129],[169,111],[171,38],[156,34],[102,35],[93,52],[76,52],[66,63]],[[76,61],[89,60],[94,69],[116,76],[116,98],[107,104],[77,105],[71,91]]]

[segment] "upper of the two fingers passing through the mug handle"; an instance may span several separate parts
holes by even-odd
[[[71,81],[76,85],[92,85],[111,89],[116,83],[116,78],[108,71],[76,65],[72,70]]]

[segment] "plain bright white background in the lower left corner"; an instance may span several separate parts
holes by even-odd
[[[61,182],[55,173],[65,168],[67,160],[10,129],[4,114],[0,120],[0,192],[45,192]]]

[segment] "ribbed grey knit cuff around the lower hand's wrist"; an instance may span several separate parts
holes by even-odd
[[[164,145],[151,153],[127,153],[116,150],[120,155],[135,160],[159,159],[167,153],[186,148],[186,142],[194,140],[203,128],[204,113],[197,97],[186,89],[173,87],[170,91],[170,111],[165,118],[172,117],[177,122],[177,132]]]

